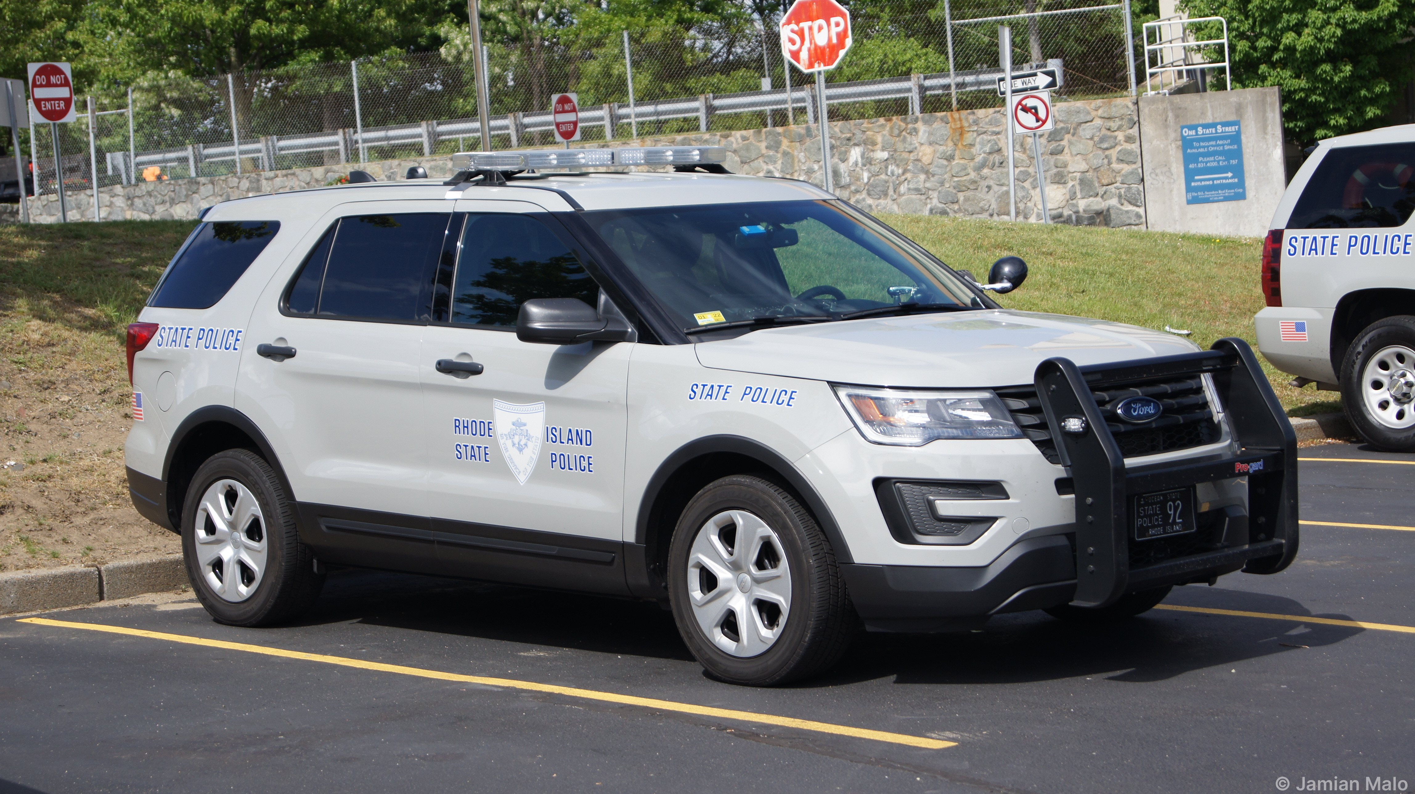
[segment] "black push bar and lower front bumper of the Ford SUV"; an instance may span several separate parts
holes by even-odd
[[[1102,413],[1094,391],[1196,374],[1213,379],[1215,408],[1235,444],[1200,459],[1126,467],[1111,432],[1116,418]],[[1023,539],[982,568],[842,566],[867,627],[965,628],[998,613],[1064,603],[1104,607],[1136,590],[1292,565],[1296,435],[1247,343],[1225,338],[1204,352],[1118,365],[1051,358],[1037,367],[1036,388],[1075,488],[1075,534]],[[1247,512],[1240,505],[1203,512],[1197,529],[1177,539],[1132,538],[1133,497],[1240,477],[1248,480]]]

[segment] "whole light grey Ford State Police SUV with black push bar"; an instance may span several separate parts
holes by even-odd
[[[328,566],[651,599],[767,685],[860,623],[1122,617],[1292,562],[1295,439],[1242,341],[1000,309],[1020,259],[976,284],[722,159],[211,208],[129,328],[127,477],[212,617],[287,620]],[[644,163],[675,173],[543,173]]]

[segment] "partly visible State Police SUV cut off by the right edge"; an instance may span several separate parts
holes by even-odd
[[[1370,443],[1415,450],[1415,125],[1323,140],[1278,204],[1258,347],[1340,391]]]

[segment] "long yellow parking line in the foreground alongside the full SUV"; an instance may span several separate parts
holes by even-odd
[[[833,733],[836,736],[850,736],[855,739],[872,739],[874,742],[889,742],[893,744],[907,744],[910,747],[924,747],[927,750],[942,750],[952,747],[957,742],[941,742],[924,736],[908,736],[904,733],[889,733],[886,730],[870,730],[867,727],[850,727],[848,725],[832,725],[829,722],[815,722],[809,719],[795,719],[790,716],[764,715],[758,712],[739,712],[736,709],[719,709],[713,706],[699,706],[693,703],[679,703],[675,701],[659,701],[657,698],[638,698],[634,695],[618,695],[614,692],[599,692],[594,689],[579,689],[574,686],[556,686],[553,684],[538,684],[535,681],[516,681],[512,678],[490,678],[485,675],[460,675],[456,672],[441,672],[437,669],[422,669],[417,667],[403,667],[398,664],[372,662],[351,660],[347,657],[330,657],[324,654],[306,654],[303,651],[286,651],[284,648],[269,648],[265,645],[248,645],[245,643],[226,643],[224,640],[207,640],[202,637],[188,637],[185,634],[164,634],[161,631],[143,631],[140,628],[126,628],[122,626],[102,626],[95,623],[69,623],[67,620],[48,620],[44,617],[24,617],[18,623],[34,623],[38,626],[55,626],[59,628],[85,628],[88,631],[108,631],[110,634],[127,634],[129,637],[146,637],[149,640],[167,640],[170,643],[185,643],[188,645],[205,645],[208,648],[224,648],[228,651],[246,651],[267,657],[283,657],[289,660],[317,661],[335,664],[340,667],[357,667],[361,669],[375,669],[379,672],[396,672],[400,675],[415,675],[419,678],[434,678],[439,681],[457,681],[463,684],[483,684],[487,686],[504,686],[507,689],[526,689],[531,692],[548,692],[552,695],[566,695],[583,698],[586,701],[600,701],[606,703],[621,703],[625,706],[642,706],[665,712],[679,712],[693,716],[708,716],[729,719],[736,722],[754,722],[760,725],[775,725],[778,727],[795,727],[799,730],[814,730],[816,733]]]

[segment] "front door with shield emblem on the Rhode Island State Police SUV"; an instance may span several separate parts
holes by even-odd
[[[419,359],[427,512],[443,569],[623,592],[634,345],[516,340],[522,301],[577,297],[594,306],[599,286],[573,241],[539,207],[461,201],[457,208],[468,212],[453,219],[454,229],[461,226],[456,263],[439,275]],[[439,361],[481,371],[440,371]]]

